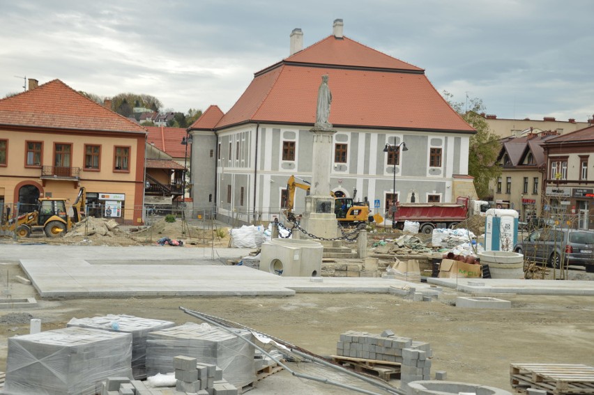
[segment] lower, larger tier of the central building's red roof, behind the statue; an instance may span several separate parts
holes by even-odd
[[[335,126],[474,131],[423,74],[298,65],[255,77],[216,127],[245,121],[313,125],[324,74]]]

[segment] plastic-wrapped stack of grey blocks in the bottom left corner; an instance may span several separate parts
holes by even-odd
[[[8,339],[4,393],[94,395],[102,380],[132,377],[132,335],[67,327]]]

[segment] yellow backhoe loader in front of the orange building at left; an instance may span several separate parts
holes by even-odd
[[[28,238],[31,235],[45,235],[48,238],[55,238],[70,231],[73,224],[84,217],[84,205],[86,201],[86,190],[81,187],[77,199],[73,204],[73,215],[68,215],[66,210],[66,199],[42,198],[39,199],[35,211],[26,212],[16,218],[8,220],[2,226],[3,231],[12,231],[20,238]]]

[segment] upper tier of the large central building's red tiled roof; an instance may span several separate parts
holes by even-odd
[[[284,61],[422,71],[422,68],[383,54],[355,40],[347,37],[335,38],[335,36],[328,36],[303,51],[289,56]]]

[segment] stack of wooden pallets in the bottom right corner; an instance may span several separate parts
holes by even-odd
[[[594,367],[580,364],[510,364],[518,393],[536,388],[553,395],[594,395]]]

